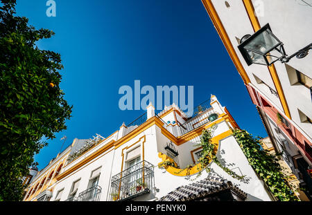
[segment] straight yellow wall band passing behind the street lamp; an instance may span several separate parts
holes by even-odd
[[[254,6],[252,5],[252,1],[251,0],[243,0],[243,3],[245,5],[245,9],[248,13],[248,17],[249,17],[250,22],[252,24],[252,28],[254,28],[254,32],[256,32],[257,30],[259,30],[261,28],[261,26],[259,24],[258,18],[256,17],[256,15],[254,15]],[[281,87],[281,82],[279,81],[279,77],[277,75],[277,71],[275,69],[274,64],[272,66],[268,66],[268,70],[270,71],[270,75],[272,77],[272,81],[275,85],[277,93],[279,94],[279,100],[281,101],[281,106],[283,106],[284,113],[289,119],[291,119],[291,112],[288,109],[286,97],[284,95],[283,88]]]

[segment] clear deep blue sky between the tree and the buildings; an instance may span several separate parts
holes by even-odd
[[[55,32],[41,49],[62,55],[61,88],[73,105],[67,130],[35,156],[39,169],[74,138],[107,137],[144,111],[121,111],[119,88],[194,86],[194,104],[218,97],[242,129],[266,137],[257,109],[200,0],[17,0],[17,15]]]

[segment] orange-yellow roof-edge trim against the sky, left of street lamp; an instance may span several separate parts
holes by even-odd
[[[218,13],[216,12],[216,9],[214,8],[214,4],[211,2],[211,0],[202,0],[202,3],[204,4],[209,17],[212,23],[214,24],[216,31],[218,32],[218,35],[223,41],[223,44],[225,45],[225,48],[227,49],[227,53],[229,53],[229,57],[231,57],[237,71],[239,71],[239,75],[241,75],[243,82],[245,84],[250,83],[250,79],[245,69],[243,68],[243,65],[241,64],[239,57],[237,56],[234,50],[232,42],[229,39],[229,36],[227,35],[227,32],[222,24],[222,21],[220,20],[218,16]]]

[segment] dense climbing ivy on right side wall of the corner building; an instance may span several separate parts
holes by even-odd
[[[289,187],[286,178],[279,165],[279,155],[272,155],[264,150],[259,137],[254,138],[245,130],[234,129],[233,135],[243,150],[248,162],[257,174],[268,185],[270,191],[281,201],[295,201],[295,196]]]

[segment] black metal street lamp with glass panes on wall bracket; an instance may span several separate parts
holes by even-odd
[[[312,49],[312,43],[288,57],[284,44],[272,33],[270,25],[266,24],[253,35],[243,36],[238,48],[248,66],[251,64],[270,66],[277,61],[289,62],[295,56],[306,57]]]

